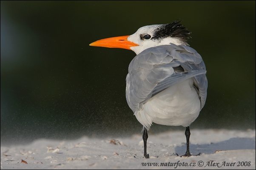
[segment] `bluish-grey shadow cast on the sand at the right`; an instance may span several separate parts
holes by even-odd
[[[190,153],[193,155],[214,154],[219,150],[238,150],[238,149],[255,149],[255,138],[230,138],[219,143],[210,143],[202,145],[190,144]],[[175,148],[177,154],[185,154],[186,145],[177,146]]]

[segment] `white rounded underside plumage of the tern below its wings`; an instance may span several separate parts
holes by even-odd
[[[153,96],[134,115],[147,129],[152,122],[169,126],[189,126],[198,117],[200,108],[201,102],[191,78]]]

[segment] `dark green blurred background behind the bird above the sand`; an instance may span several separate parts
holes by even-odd
[[[255,129],[255,1],[1,1],[1,144],[124,136],[135,53],[90,47],[176,19],[202,56],[208,96],[193,129]],[[153,124],[150,133],[184,127]]]

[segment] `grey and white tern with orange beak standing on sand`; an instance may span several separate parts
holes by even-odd
[[[152,123],[186,127],[187,150],[182,156],[193,155],[189,150],[189,126],[205,105],[208,81],[201,55],[189,47],[191,32],[180,22],[147,25],[129,36],[89,44],[136,53],[128,67],[126,100],[143,126],[145,158],[149,158],[147,140]]]

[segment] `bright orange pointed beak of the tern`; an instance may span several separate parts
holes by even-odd
[[[89,45],[96,46],[96,47],[124,48],[124,49],[130,49],[130,47],[138,46],[138,44],[128,41],[127,37],[128,36],[105,38],[105,39],[95,41]]]

